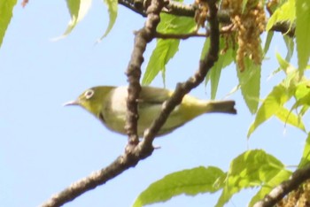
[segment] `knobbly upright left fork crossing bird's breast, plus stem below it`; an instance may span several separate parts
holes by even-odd
[[[142,160],[145,154],[141,153],[134,146],[135,128],[136,123],[136,97],[139,94],[140,84],[140,66],[143,62],[143,51],[145,50],[146,43],[150,42],[155,33],[155,29],[159,24],[159,12],[164,6],[163,0],[151,0],[151,5],[147,9],[147,19],[144,27],[138,31],[135,39],[135,48],[132,53],[131,60],[128,64],[128,81],[129,81],[129,95],[128,95],[128,108],[130,112],[128,119],[130,122],[128,131],[134,138],[129,138],[128,146],[124,155],[118,157],[111,165],[103,168],[96,173],[90,174],[88,177],[74,182],[70,187],[59,192],[57,195],[50,197],[48,201],[42,204],[43,207],[56,207],[65,203],[73,201],[76,197],[89,191],[90,189],[97,188],[97,186],[104,184],[108,180],[112,180],[114,177],[123,173],[128,168],[135,166],[140,160]],[[135,150],[131,150],[135,149]],[[146,148],[144,148],[144,151]],[[147,156],[151,155],[153,148],[147,148]]]

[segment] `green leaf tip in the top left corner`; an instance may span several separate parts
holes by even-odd
[[[0,47],[12,19],[13,8],[16,3],[17,0],[0,0]]]

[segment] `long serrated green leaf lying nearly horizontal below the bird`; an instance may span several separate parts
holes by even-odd
[[[137,198],[133,206],[143,206],[151,203],[165,202],[173,196],[186,194],[195,196],[199,193],[213,193],[221,188],[217,180],[224,175],[221,169],[213,166],[196,167],[171,173],[163,179],[152,183]]]

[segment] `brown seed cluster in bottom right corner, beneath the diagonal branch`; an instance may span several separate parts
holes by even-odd
[[[310,206],[310,180],[301,185],[297,190],[284,197],[276,207],[306,207]]]

